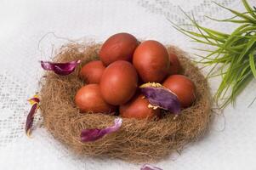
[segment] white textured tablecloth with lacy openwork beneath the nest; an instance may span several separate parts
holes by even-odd
[[[240,0],[216,2],[243,10]],[[255,5],[255,1],[249,2]],[[197,45],[174,30],[167,20],[186,22],[179,6],[188,14],[194,14],[203,26],[227,32],[234,28],[206,20],[204,15],[230,16],[211,0],[1,0],[0,169],[139,169],[141,165],[123,161],[72,155],[40,127],[39,116],[33,138],[28,139],[24,133],[30,110],[26,99],[38,90],[38,80],[43,73],[38,60],[50,59],[54,56],[52,49],[59,48],[67,39],[102,42],[114,33],[128,31],[136,37],[172,43],[194,53],[191,47]],[[48,32],[54,32],[59,38]],[[213,91],[218,83],[219,79],[210,80]],[[256,104],[247,108],[254,96],[255,81],[240,95],[235,108],[229,106],[224,116],[215,116],[203,139],[190,144],[180,156],[169,156],[156,166],[165,170],[256,169]]]

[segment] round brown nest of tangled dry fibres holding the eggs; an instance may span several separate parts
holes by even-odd
[[[123,119],[122,127],[95,142],[82,143],[81,130],[111,126],[116,116],[80,113],[74,103],[77,90],[84,85],[78,77],[81,69],[66,77],[48,72],[42,79],[40,109],[44,126],[56,139],[77,154],[93,157],[118,158],[130,162],[159,161],[174,150],[202,136],[209,124],[211,99],[208,82],[193,65],[187,54],[172,46],[168,51],[178,55],[183,74],[196,84],[196,102],[174,118],[167,114],[159,120]],[[100,44],[68,44],[60,48],[54,61],[82,59],[82,65],[99,59]]]

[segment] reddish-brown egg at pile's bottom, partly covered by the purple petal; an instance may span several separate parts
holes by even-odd
[[[145,119],[158,116],[160,110],[153,110],[149,108],[148,105],[150,102],[143,97],[142,94],[135,95],[128,103],[120,105],[119,112],[120,116],[125,118],[136,118],[136,119]]]

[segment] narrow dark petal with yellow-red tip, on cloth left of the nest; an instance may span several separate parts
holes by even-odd
[[[39,107],[40,99],[38,99],[38,96],[36,94],[36,95],[34,95],[33,98],[29,99],[28,101],[31,103],[32,106],[31,106],[31,111],[26,116],[25,131],[26,131],[26,135],[30,136],[30,134],[31,134],[31,127],[33,125],[35,113],[37,112],[37,109]]]

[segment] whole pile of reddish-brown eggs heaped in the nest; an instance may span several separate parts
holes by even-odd
[[[162,43],[139,42],[128,33],[109,37],[100,48],[100,60],[82,66],[86,85],[77,91],[75,103],[82,112],[117,113],[126,118],[159,116],[160,108],[149,107],[139,92],[146,82],[159,82],[189,107],[196,99],[196,87],[188,77],[179,75],[179,59],[168,54]]]

